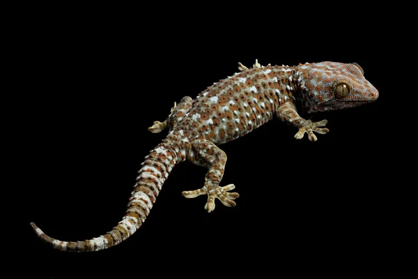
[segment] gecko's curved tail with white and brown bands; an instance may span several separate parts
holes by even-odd
[[[98,251],[115,246],[129,236],[132,236],[153,208],[164,181],[169,176],[171,169],[179,163],[182,158],[178,148],[171,148],[164,140],[162,144],[150,151],[142,163],[137,176],[137,183],[127,204],[127,211],[121,222],[118,223],[110,232],[102,236],[88,239],[85,241],[59,241],[47,236],[34,223],[31,227],[42,241],[52,245],[55,249],[70,252],[90,252]],[[184,160],[184,158],[183,158]]]

